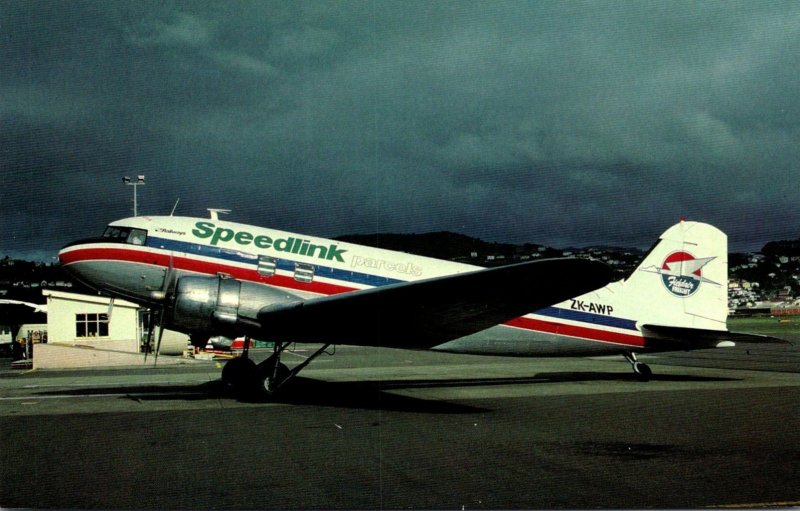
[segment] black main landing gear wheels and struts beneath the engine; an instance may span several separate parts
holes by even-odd
[[[290,344],[276,342],[272,355],[260,364],[256,364],[250,358],[250,338],[246,337],[242,355],[229,360],[222,368],[222,381],[237,393],[272,397],[330,346],[330,344],[323,345],[302,363],[289,369],[281,362],[281,353]]]

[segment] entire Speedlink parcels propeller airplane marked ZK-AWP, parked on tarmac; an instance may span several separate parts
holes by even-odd
[[[260,364],[245,349],[223,367],[222,380],[237,390],[271,396],[331,344],[621,354],[647,380],[652,371],[639,353],[778,341],[727,330],[727,236],[705,223],[681,220],[631,275],[611,282],[606,264],[586,258],[481,268],[224,221],[221,210],[209,211],[209,218],[118,220],[100,237],[66,245],[59,259],[98,292],[156,311],[161,331],[189,334],[196,346],[215,335],[273,341]],[[289,369],[281,353],[296,342],[322,346]]]

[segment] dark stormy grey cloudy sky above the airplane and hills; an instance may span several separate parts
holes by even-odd
[[[800,237],[795,1],[0,0],[0,257],[133,214]]]

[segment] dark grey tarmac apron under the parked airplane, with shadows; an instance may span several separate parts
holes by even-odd
[[[640,357],[649,382],[621,356],[338,347],[271,402],[216,362],[0,359],[0,506],[797,507],[798,344]]]

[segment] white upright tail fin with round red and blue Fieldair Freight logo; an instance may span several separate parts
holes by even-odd
[[[681,221],[621,284],[617,310],[640,327],[725,331],[728,237],[711,225]]]

